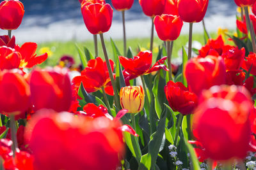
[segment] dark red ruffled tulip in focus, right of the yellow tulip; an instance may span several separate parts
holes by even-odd
[[[197,96],[189,92],[182,83],[168,81],[164,92],[173,111],[179,111],[182,115],[193,113],[197,105]]]

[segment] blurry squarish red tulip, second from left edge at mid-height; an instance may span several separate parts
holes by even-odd
[[[42,108],[69,110],[72,90],[70,78],[64,69],[35,69],[31,73],[29,83],[35,111]]]

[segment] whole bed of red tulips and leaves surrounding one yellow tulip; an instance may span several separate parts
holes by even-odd
[[[79,64],[18,45],[24,5],[0,3],[0,169],[256,169],[256,0],[234,0],[236,30],[214,38],[209,0],[139,0],[152,24],[142,45],[125,34],[134,1],[77,1],[93,42],[61,49]],[[113,10],[119,41],[104,39]]]

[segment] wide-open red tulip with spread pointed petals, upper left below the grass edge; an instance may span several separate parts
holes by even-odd
[[[31,42],[24,43],[22,46],[15,46],[15,50],[21,55],[20,67],[31,68],[47,59],[47,53],[36,56],[36,48],[37,44]]]

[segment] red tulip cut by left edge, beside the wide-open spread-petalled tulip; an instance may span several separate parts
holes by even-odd
[[[0,46],[0,69],[15,69],[20,65],[20,53],[13,48]]]

